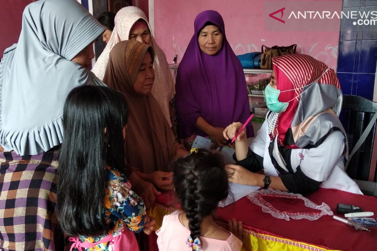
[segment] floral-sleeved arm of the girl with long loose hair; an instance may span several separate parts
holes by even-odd
[[[127,181],[126,176],[113,169],[109,173],[105,207],[123,221],[129,230],[135,233],[143,230],[146,224],[143,199],[131,190],[131,183]]]

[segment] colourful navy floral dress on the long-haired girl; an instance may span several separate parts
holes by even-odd
[[[131,190],[131,183],[118,170],[107,167],[109,181],[107,183],[102,217],[110,219],[109,232],[101,236],[79,236],[82,242],[98,242],[109,234],[117,236],[124,227],[135,233],[143,230],[146,210],[143,199]],[[88,202],[90,203],[90,202]],[[128,231],[128,230],[125,231]],[[77,249],[76,249],[77,250]],[[107,251],[109,243],[101,243],[85,251]]]

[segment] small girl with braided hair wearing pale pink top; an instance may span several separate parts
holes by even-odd
[[[173,162],[172,167],[182,211],[164,216],[161,228],[156,231],[159,250],[241,250],[241,240],[213,220],[218,203],[228,196],[222,156],[193,148],[190,154]],[[238,227],[242,230],[241,224]]]

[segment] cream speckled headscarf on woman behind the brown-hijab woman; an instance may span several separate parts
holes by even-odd
[[[147,17],[141,9],[135,6],[128,6],[120,9],[120,11],[116,13],[113,33],[111,34],[110,40],[103,50],[101,56],[97,59],[92,72],[99,79],[103,79],[111,49],[120,41],[129,39],[130,30],[133,24],[135,24],[139,19],[146,21],[148,24],[152,36],[150,45],[155,52],[155,62],[153,68],[155,68],[156,78],[153,84],[152,94],[155,96],[157,102],[161,106],[162,113],[166,117],[166,120],[171,127],[172,123],[170,121],[169,102],[175,95],[173,76],[166,61],[165,53],[156,44],[156,41],[152,35],[152,30],[150,29],[150,25],[147,21]]]

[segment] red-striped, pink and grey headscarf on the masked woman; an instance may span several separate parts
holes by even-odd
[[[341,127],[336,114],[338,111],[334,113],[333,108],[341,106],[342,91],[333,69],[311,56],[291,54],[273,58],[273,70],[277,89],[280,90],[279,101],[293,100],[289,102],[287,110],[274,120],[276,125],[271,130],[271,139],[277,137],[278,143],[288,148],[304,148],[307,145],[300,138],[303,135],[307,138],[308,130],[314,130],[314,121],[322,122],[317,120],[321,118],[327,120],[327,116],[320,116],[323,113],[331,114],[334,125]],[[320,124],[316,123],[318,126]],[[307,138],[305,142],[308,145],[316,144],[324,140],[325,134],[327,132],[320,134],[320,138]]]

